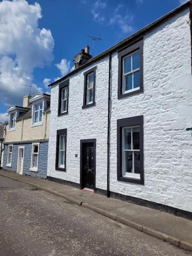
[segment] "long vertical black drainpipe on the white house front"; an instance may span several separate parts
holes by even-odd
[[[110,101],[111,101],[111,54],[109,54],[109,86],[108,86],[107,197],[110,197]]]

